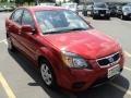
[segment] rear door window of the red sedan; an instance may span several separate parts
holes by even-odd
[[[16,10],[12,15],[11,20],[21,24],[21,16],[22,16],[23,10]]]

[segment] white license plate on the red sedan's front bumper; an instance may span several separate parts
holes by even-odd
[[[107,77],[110,78],[120,73],[120,65],[115,65],[108,69]]]

